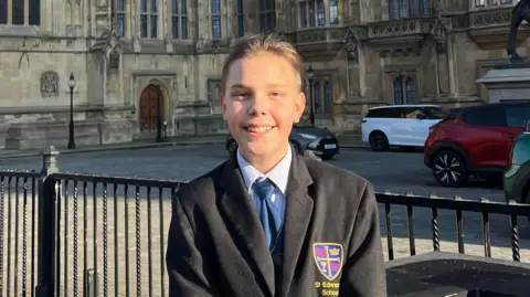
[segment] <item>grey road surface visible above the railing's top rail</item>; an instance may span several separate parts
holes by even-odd
[[[222,146],[99,151],[60,155],[59,168],[62,172],[191,180],[223,162],[226,156]],[[42,160],[40,157],[31,157],[0,162],[0,169],[40,170]],[[470,182],[460,189],[438,185],[431,170],[423,165],[421,151],[373,152],[370,149],[342,149],[335,160],[327,162],[364,177],[379,192],[412,191],[421,195],[460,195],[473,200],[487,198],[504,201],[501,189],[485,182]]]

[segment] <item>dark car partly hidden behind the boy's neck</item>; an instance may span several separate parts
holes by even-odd
[[[339,153],[339,140],[327,128],[295,125],[289,135],[289,142],[298,153],[304,155],[305,150],[310,150],[322,160],[329,160]],[[233,152],[235,149],[237,142],[229,135],[226,150]]]

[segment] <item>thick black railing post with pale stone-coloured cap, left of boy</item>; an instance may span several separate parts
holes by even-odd
[[[42,178],[39,181],[39,278],[36,297],[53,297],[56,290],[56,193],[53,173],[59,172],[59,151],[49,147],[42,151]]]

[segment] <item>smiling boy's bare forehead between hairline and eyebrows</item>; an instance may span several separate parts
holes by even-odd
[[[287,59],[261,53],[235,60],[230,66],[226,82],[229,87],[233,84],[296,86],[298,76],[298,72]]]

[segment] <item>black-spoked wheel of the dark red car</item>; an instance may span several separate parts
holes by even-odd
[[[469,178],[464,158],[452,151],[443,150],[433,159],[433,174],[444,187],[459,187]]]

